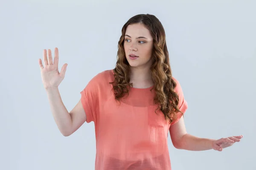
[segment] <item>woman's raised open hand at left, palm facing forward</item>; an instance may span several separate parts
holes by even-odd
[[[47,59],[48,52],[48,59]],[[39,66],[41,69],[41,77],[45,89],[57,88],[60,85],[61,81],[65,77],[65,72],[67,69],[67,63],[64,64],[61,68],[61,72],[58,71],[58,48],[54,49],[54,62],[52,62],[52,52],[50,49],[43,51],[44,57],[44,66],[42,60],[38,59]]]

